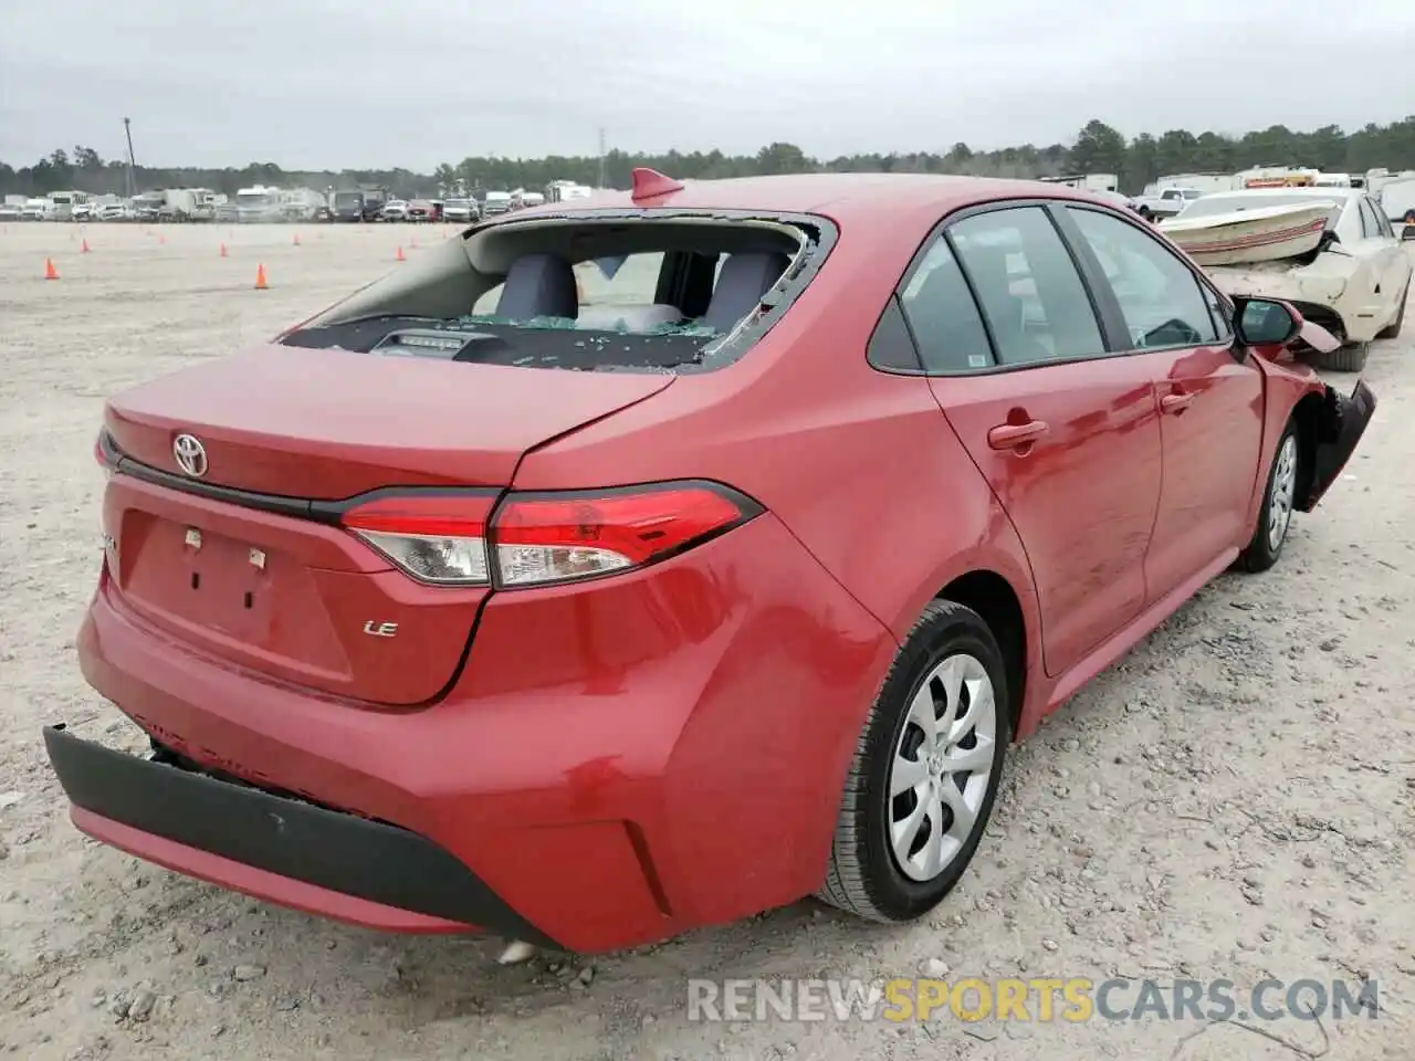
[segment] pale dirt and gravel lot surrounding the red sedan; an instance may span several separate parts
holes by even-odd
[[[815,904],[662,946],[494,963],[497,942],[287,912],[82,839],[40,741],[133,727],[74,634],[99,563],[103,396],[270,335],[415,231],[65,225],[0,232],[0,1055],[47,1058],[1409,1058],[1415,1031],[1415,328],[1378,416],[1262,577],[1208,587],[1010,763],[930,924]],[[426,245],[440,229],[422,229]],[[218,255],[225,239],[229,256]],[[61,280],[42,279],[52,256]],[[263,263],[270,290],[252,290]],[[1353,378],[1341,378],[1348,389]],[[567,867],[566,871],[573,871]],[[1378,980],[1378,1020],[689,1021],[686,978]],[[1034,1014],[1033,1014],[1034,1016]],[[1177,1053],[1176,1053],[1177,1051]]]

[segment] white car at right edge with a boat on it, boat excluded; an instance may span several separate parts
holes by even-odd
[[[1361,188],[1247,188],[1190,202],[1180,221],[1286,204],[1333,204],[1317,249],[1303,257],[1237,266],[1206,266],[1228,294],[1281,298],[1330,331],[1341,349],[1322,355],[1323,368],[1358,372],[1371,340],[1392,340],[1405,320],[1411,257],[1402,232]],[[1163,229],[1162,229],[1163,231]],[[1415,233],[1412,233],[1415,235]]]

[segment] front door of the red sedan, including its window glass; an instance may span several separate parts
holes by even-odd
[[[1067,207],[1065,219],[1105,276],[1098,298],[1114,298],[1131,352],[1155,372],[1165,474],[1145,559],[1153,601],[1248,536],[1264,375],[1251,356],[1234,356],[1220,298],[1152,232],[1080,205]]]

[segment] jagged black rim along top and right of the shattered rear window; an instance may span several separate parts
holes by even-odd
[[[804,211],[763,211],[763,209],[708,209],[685,207],[599,207],[591,209],[548,209],[541,207],[533,216],[490,218],[474,224],[461,233],[461,239],[473,239],[491,229],[505,229],[518,225],[536,225],[548,221],[562,221],[576,224],[582,221],[613,222],[613,221],[642,221],[647,224],[674,221],[726,221],[726,222],[766,222],[795,229],[801,238],[801,249],[787,272],[761,298],[766,310],[758,310],[743,324],[733,328],[726,335],[710,338],[705,342],[699,358],[693,362],[675,365],[671,369],[645,369],[625,365],[606,365],[600,372],[669,372],[671,375],[696,375],[700,372],[715,372],[739,361],[757,341],[771,331],[795,303],[797,297],[811,284],[821,266],[829,256],[839,239],[839,229],[835,222],[821,214]],[[533,368],[533,366],[532,366]],[[563,371],[563,369],[550,369]]]

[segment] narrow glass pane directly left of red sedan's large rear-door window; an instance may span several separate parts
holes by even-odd
[[[924,255],[900,304],[925,372],[976,372],[992,366],[992,344],[978,303],[942,236]]]

